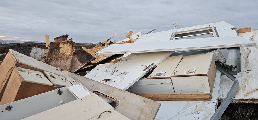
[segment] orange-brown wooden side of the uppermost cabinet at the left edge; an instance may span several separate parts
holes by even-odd
[[[9,51],[0,65],[0,99],[5,91],[5,87],[15,64],[16,59],[13,57],[12,52]]]

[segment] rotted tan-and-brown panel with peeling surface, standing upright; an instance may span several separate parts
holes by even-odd
[[[51,42],[44,57],[40,60],[44,63],[70,71],[72,53],[75,50],[75,42],[71,40]]]

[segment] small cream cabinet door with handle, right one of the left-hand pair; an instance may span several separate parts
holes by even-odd
[[[48,79],[51,81],[53,85],[60,86],[70,86],[73,85],[69,80],[65,79],[63,76],[56,75],[55,73],[44,72]]]

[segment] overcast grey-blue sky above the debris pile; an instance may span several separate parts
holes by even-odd
[[[76,43],[125,39],[132,30],[142,34],[226,21],[236,28],[258,29],[258,0],[119,1],[119,0],[1,0],[0,39],[50,42],[69,34]]]

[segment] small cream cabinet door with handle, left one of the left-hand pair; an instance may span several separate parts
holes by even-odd
[[[43,75],[43,73],[39,71],[34,71],[30,69],[25,69],[21,67],[15,67],[21,77],[23,77],[23,81],[30,83],[37,83],[42,85],[52,86],[53,84]]]

